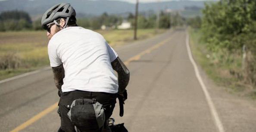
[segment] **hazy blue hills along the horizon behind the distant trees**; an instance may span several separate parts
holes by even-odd
[[[207,1],[209,3],[210,1]],[[215,2],[212,0],[211,2]],[[103,12],[108,14],[122,14],[126,12],[134,12],[135,4],[109,1],[109,0],[6,0],[0,1],[0,12],[7,10],[23,10],[30,15],[42,15],[47,9],[57,3],[71,3],[77,14],[81,16],[100,15]],[[160,2],[159,9],[184,9],[185,7],[204,7],[204,1],[170,1]],[[158,3],[140,3],[139,12],[147,12],[149,10],[156,12]]]

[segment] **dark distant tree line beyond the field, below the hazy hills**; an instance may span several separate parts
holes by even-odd
[[[138,28],[156,28],[156,14],[146,16],[140,13],[138,16]],[[102,25],[108,28],[116,28],[117,25],[121,25],[122,21],[126,19],[134,26],[134,14],[129,13],[127,18],[123,18],[118,15],[109,15],[104,12],[102,15],[95,16],[93,18],[77,18],[79,26],[89,29],[100,29]],[[172,22],[170,22],[172,21]],[[182,18],[178,12],[168,13],[160,12],[159,15],[159,28],[170,28],[172,26],[180,26],[184,24],[184,18]],[[21,31],[21,30],[42,30],[41,19],[35,21],[31,20],[31,17],[24,11],[6,11],[0,14],[0,31]]]

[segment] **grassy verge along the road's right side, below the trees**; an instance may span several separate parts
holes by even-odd
[[[226,87],[228,92],[241,96],[250,96],[256,99],[256,91],[252,86],[246,85],[231,74],[234,69],[240,68],[240,61],[237,63],[221,63],[214,59],[211,52],[206,49],[203,42],[200,41],[202,35],[199,30],[189,29],[190,46],[193,56],[198,64],[203,68],[209,78],[217,85]],[[240,59],[237,55],[229,57]]]

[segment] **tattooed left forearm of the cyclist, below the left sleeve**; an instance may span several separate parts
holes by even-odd
[[[55,80],[55,85],[58,89],[61,89],[63,85],[63,78],[65,77],[65,71],[63,65],[53,68],[53,75]]]

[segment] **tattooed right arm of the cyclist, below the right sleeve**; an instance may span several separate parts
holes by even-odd
[[[125,88],[129,83],[130,72],[119,57],[117,57],[114,61],[112,61],[111,64],[112,64],[112,68],[118,74],[118,85],[119,85],[118,92],[123,93],[125,92]]]

